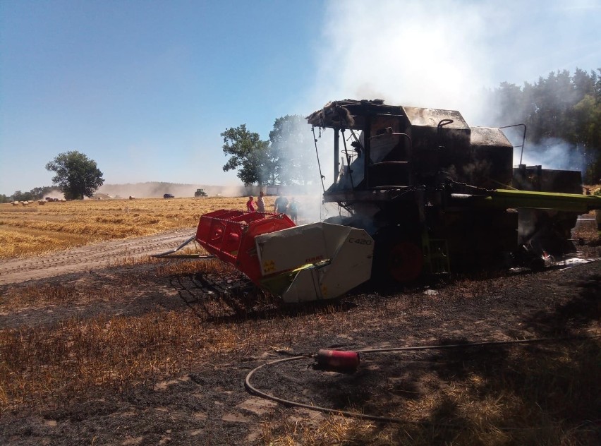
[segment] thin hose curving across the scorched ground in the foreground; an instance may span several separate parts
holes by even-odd
[[[584,340],[584,339],[597,339],[600,338],[600,336],[571,336],[571,337],[542,337],[542,338],[534,338],[534,339],[520,339],[520,340],[513,340],[513,341],[486,341],[486,342],[470,342],[470,343],[466,343],[466,344],[442,344],[442,345],[425,345],[425,346],[402,346],[402,347],[390,347],[390,348],[386,348],[386,349],[363,349],[363,350],[349,350],[348,352],[353,352],[356,354],[370,354],[370,353],[384,353],[384,352],[389,352],[389,351],[415,351],[415,350],[439,350],[439,349],[466,349],[469,347],[473,347],[473,346],[502,346],[502,345],[513,345],[513,344],[535,344],[535,343],[542,343],[542,342],[561,342],[561,341],[571,341],[571,340]],[[351,411],[342,411],[339,409],[332,409],[330,407],[322,407],[322,406],[314,406],[311,404],[303,404],[300,402],[295,402],[295,401],[291,401],[289,399],[284,399],[284,398],[279,398],[279,397],[274,397],[273,395],[270,395],[266,392],[262,392],[261,390],[258,390],[256,387],[254,387],[251,383],[250,383],[250,378],[252,378],[253,374],[257,371],[260,370],[261,368],[267,367],[267,366],[273,366],[274,364],[277,363],[282,363],[282,362],[286,362],[286,361],[298,361],[300,359],[309,359],[309,358],[316,358],[317,355],[310,355],[310,354],[303,354],[303,355],[298,355],[298,356],[291,356],[289,358],[281,358],[281,359],[276,359],[275,361],[269,361],[268,363],[262,364],[256,368],[253,368],[253,370],[250,370],[250,373],[248,373],[248,375],[246,375],[246,378],[244,380],[244,385],[246,390],[248,390],[248,392],[250,392],[251,394],[255,394],[257,395],[257,397],[261,397],[263,399],[270,399],[274,402],[278,402],[280,404],[284,404],[286,406],[295,406],[295,407],[302,407],[304,409],[310,409],[313,411],[320,411],[320,412],[324,412],[326,414],[336,414],[336,415],[342,415],[342,416],[350,416],[353,418],[363,418],[363,419],[367,419],[367,420],[374,420],[374,421],[383,421],[383,422],[387,422],[387,423],[411,423],[411,424],[424,424],[424,423],[430,423],[429,421],[411,421],[411,420],[403,420],[401,418],[395,418],[395,417],[388,417],[388,416],[377,416],[377,415],[370,415],[370,414],[360,414],[359,412],[351,412]],[[437,426],[447,426],[447,427],[454,427],[455,425],[453,424],[447,424],[447,423],[436,423]]]

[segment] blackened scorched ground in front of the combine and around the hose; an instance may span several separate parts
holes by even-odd
[[[102,314],[194,311],[199,320],[215,325],[277,320],[273,329],[289,332],[289,342],[284,349],[266,348],[257,342],[254,349],[241,354],[216,355],[211,361],[190,364],[177,375],[154,377],[150,382],[120,390],[91,389],[87,395],[52,404],[8,408],[0,415],[1,444],[264,444],[268,441],[265,426],[300,421],[305,426],[317,426],[327,418],[318,411],[277,404],[247,392],[245,376],[268,361],[315,354],[324,348],[379,349],[601,333],[600,261],[559,265],[536,274],[451,277],[408,289],[376,292],[366,284],[335,303],[303,308],[241,305],[245,285],[235,273],[225,280],[194,274],[163,277],[156,274],[156,268],[97,266],[27,282],[11,282],[5,275],[7,282],[0,285],[2,294],[18,287],[66,283],[112,292],[104,301],[84,299],[5,311],[0,314],[0,327],[51,327],[73,316],[83,319]],[[228,309],[215,311],[217,301],[220,308]],[[310,318],[327,323],[320,325],[320,330],[295,331],[296,322]],[[578,349],[588,349],[597,357],[599,354],[598,339],[557,342],[578,343]],[[554,344],[361,354],[360,367],[352,374],[314,370],[311,359],[301,359],[257,370],[253,385],[304,404],[389,416],[399,414],[403,404],[427,398],[431,389],[471,373],[494,380],[499,370],[515,370],[514,379],[499,385],[519,393],[528,380],[544,375],[540,370],[526,373],[521,368],[523,355],[535,353],[552,357]],[[594,367],[600,375],[601,364]],[[564,371],[583,372],[576,363]],[[428,377],[427,384],[424,376]],[[561,385],[561,380],[556,384]],[[600,388],[590,389],[588,398],[593,400],[593,407],[596,404],[596,417],[590,411],[559,416],[568,418],[571,428],[585,430],[582,444],[599,444]],[[543,407],[552,404],[552,397],[543,400]],[[430,418],[430,422],[453,418],[453,408],[444,407],[444,403],[439,412],[440,418]],[[399,438],[406,438],[404,433],[407,429],[399,428]],[[452,435],[432,438],[438,444],[454,439]],[[408,440],[399,440],[403,442]]]

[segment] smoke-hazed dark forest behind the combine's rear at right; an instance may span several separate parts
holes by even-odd
[[[491,103],[498,111],[495,126],[526,124],[526,150],[560,145],[568,152],[561,155],[580,159],[586,184],[601,183],[601,68],[551,72],[522,87],[504,82],[492,91]]]

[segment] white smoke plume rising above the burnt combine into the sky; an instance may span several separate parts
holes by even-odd
[[[454,109],[470,126],[494,126],[498,116],[490,92],[500,83],[533,83],[550,71],[576,68],[566,63],[577,63],[575,42],[581,35],[567,25],[539,25],[538,16],[569,23],[600,8],[598,2],[581,0],[528,6],[514,0],[330,1],[315,40],[319,68],[299,108],[309,114],[331,100],[382,99],[387,104]],[[541,53],[550,42],[552,53]],[[518,119],[507,116],[500,125]],[[334,161],[332,133],[326,133],[318,145],[327,188]],[[524,164],[581,169],[578,154],[569,155],[559,141],[545,142],[542,148],[527,146]],[[518,149],[514,164],[519,155]]]

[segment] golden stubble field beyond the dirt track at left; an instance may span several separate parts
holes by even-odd
[[[194,227],[216,209],[245,209],[248,198],[83,200],[0,205],[0,259]],[[267,198],[266,205],[273,205]]]

